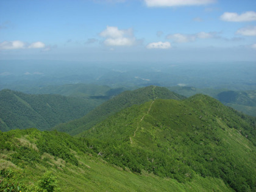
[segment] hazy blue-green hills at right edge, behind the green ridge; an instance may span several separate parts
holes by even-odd
[[[215,88],[168,87],[169,90],[190,97],[197,93],[207,94],[222,104],[235,108],[247,115],[256,116],[256,91],[230,91]]]

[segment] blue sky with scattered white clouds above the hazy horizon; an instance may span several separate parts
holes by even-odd
[[[0,60],[256,62],[255,0],[0,0]]]

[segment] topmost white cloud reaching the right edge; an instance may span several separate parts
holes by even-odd
[[[231,22],[256,21],[256,12],[245,12],[241,15],[238,15],[238,13],[225,12],[220,18],[223,21]]]

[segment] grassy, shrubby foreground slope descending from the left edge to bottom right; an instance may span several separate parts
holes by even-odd
[[[87,140],[37,129],[0,132],[0,191],[43,191],[43,174],[59,191],[232,191],[221,179],[195,175],[180,183],[105,162]],[[47,172],[46,172],[47,173]]]

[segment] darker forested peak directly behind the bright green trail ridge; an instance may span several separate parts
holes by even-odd
[[[102,105],[99,105],[99,107],[94,108],[94,110],[82,118],[65,124],[60,124],[55,126],[53,129],[67,132],[71,135],[76,135],[77,133],[90,129],[90,127],[101,122],[103,119],[126,107],[143,104],[144,102],[151,101],[156,98],[179,100],[184,99],[185,97],[172,93],[166,88],[155,86],[144,87],[134,91],[124,91],[109,101],[104,102]]]

